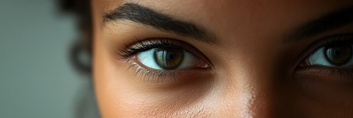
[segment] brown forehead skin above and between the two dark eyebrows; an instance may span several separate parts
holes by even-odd
[[[98,13],[124,3],[137,3],[223,36],[259,32],[257,36],[263,37],[349,6],[352,0],[93,0],[96,10],[102,10]]]

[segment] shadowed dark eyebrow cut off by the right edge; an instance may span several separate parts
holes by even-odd
[[[287,42],[298,41],[319,33],[329,30],[338,29],[349,25],[353,22],[353,5],[323,15],[323,17],[313,20],[307,24],[300,26],[298,29],[290,33]]]

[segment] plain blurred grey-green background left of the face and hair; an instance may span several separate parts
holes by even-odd
[[[0,0],[0,118],[97,118],[89,74],[70,63],[80,37],[57,0]]]

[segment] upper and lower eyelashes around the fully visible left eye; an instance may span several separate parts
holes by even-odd
[[[140,78],[142,78],[144,82],[154,82],[154,83],[162,83],[162,82],[168,82],[168,81],[176,82],[177,80],[176,75],[180,75],[187,72],[187,69],[177,70],[177,71],[147,69],[141,66],[141,64],[136,62],[135,59],[133,59],[132,57],[140,52],[147,51],[153,48],[159,48],[159,47],[173,47],[173,48],[184,50],[186,52],[190,52],[186,50],[181,43],[176,43],[176,41],[173,41],[173,39],[166,39],[166,38],[146,39],[143,41],[136,38],[136,40],[137,42],[132,45],[127,45],[126,43],[124,43],[126,48],[119,49],[120,53],[117,52],[120,56],[123,57],[122,59],[128,59],[126,63],[127,70],[132,69],[134,76],[137,76],[137,74],[140,73]],[[150,79],[153,79],[153,80],[150,80]]]

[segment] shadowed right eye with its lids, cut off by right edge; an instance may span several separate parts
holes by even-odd
[[[353,81],[353,34],[338,34],[317,41],[304,53],[298,68],[316,79]],[[304,71],[303,71],[304,70]]]

